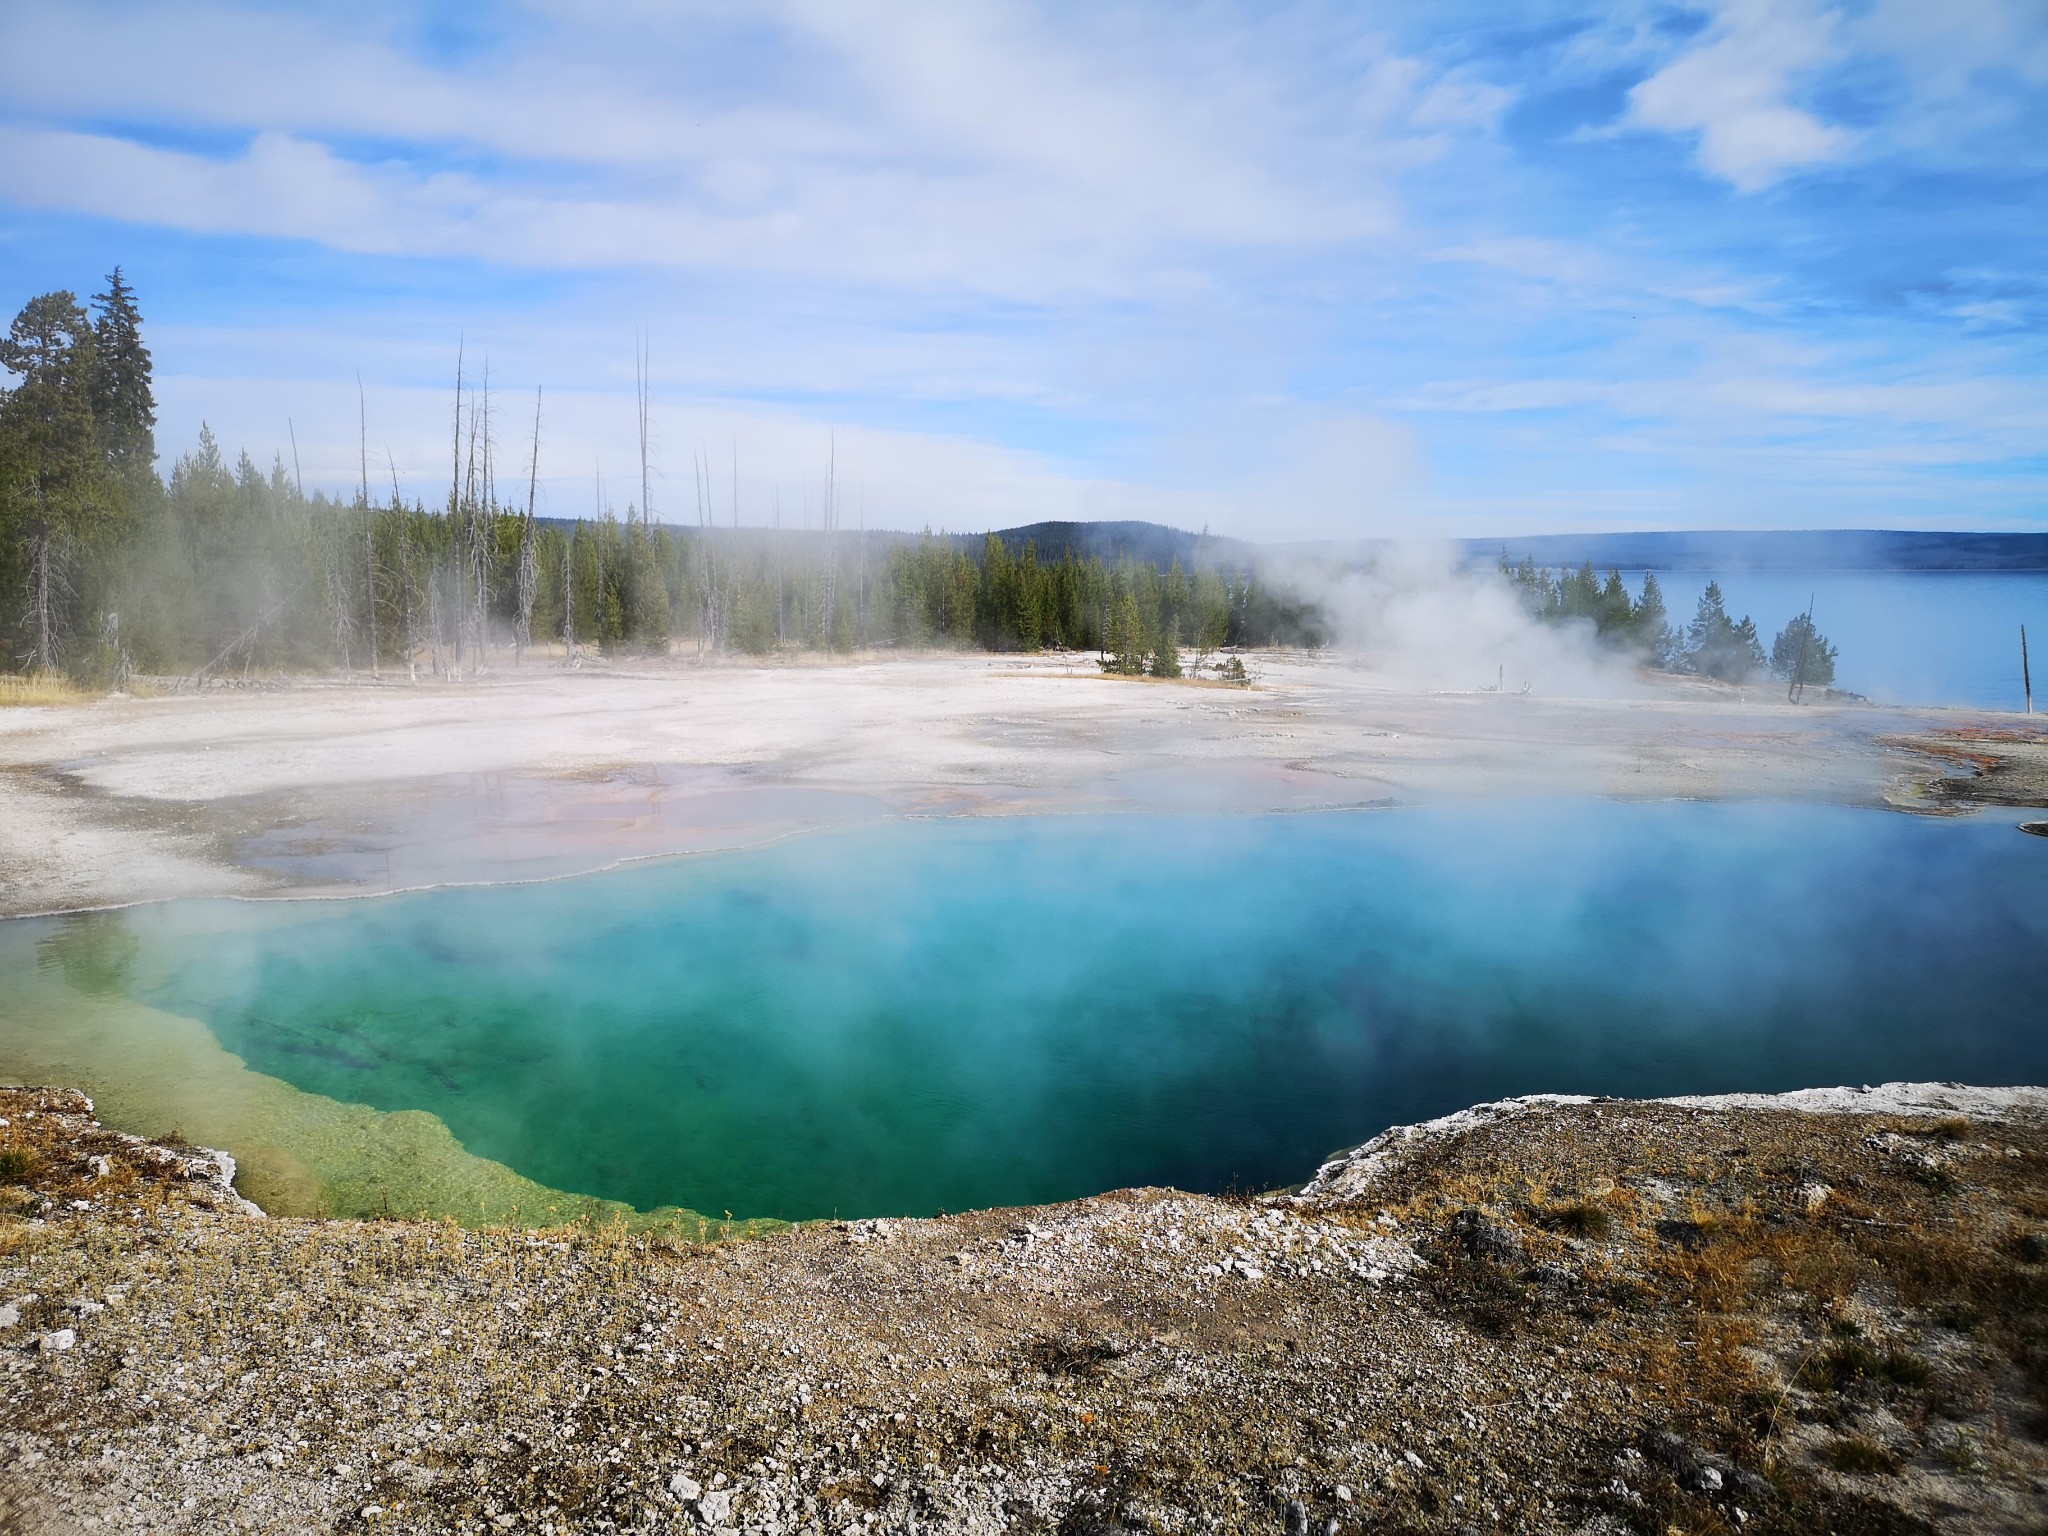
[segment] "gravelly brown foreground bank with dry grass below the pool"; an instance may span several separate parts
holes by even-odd
[[[1296,1194],[266,1219],[0,1092],[0,1530],[2019,1532],[2048,1090],[1528,1098]]]

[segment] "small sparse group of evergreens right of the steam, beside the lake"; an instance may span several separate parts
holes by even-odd
[[[1591,623],[1602,643],[1634,655],[1645,666],[1692,672],[1718,682],[1755,682],[1776,674],[1796,688],[1825,688],[1835,682],[1835,647],[1815,629],[1812,614],[1794,614],[1772,641],[1763,639],[1749,614],[1731,618],[1718,582],[1708,582],[1700,606],[1686,629],[1675,629],[1665,612],[1657,573],[1642,573],[1642,588],[1630,596],[1620,571],[1606,580],[1591,561],[1577,571],[1548,571],[1524,557],[1509,565],[1501,557],[1501,578],[1532,614],[1546,623]]]

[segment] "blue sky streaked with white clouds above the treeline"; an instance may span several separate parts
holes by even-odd
[[[1262,541],[2048,528],[2048,4],[0,0],[166,473]],[[358,393],[360,383],[360,393]],[[358,420],[360,414],[360,420]],[[737,487],[737,489],[735,489]]]

